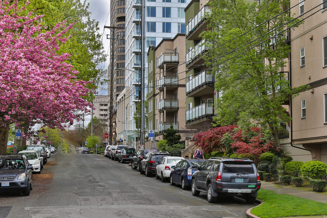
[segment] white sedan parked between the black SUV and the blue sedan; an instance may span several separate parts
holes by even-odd
[[[170,177],[171,167],[175,166],[176,163],[181,161],[182,157],[164,157],[161,159],[161,161],[158,163],[156,167],[156,178],[161,178],[161,181],[165,181],[166,178]]]

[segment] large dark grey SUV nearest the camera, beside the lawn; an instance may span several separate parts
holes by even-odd
[[[239,196],[254,203],[260,189],[260,176],[254,162],[248,158],[210,158],[192,175],[192,194],[207,194],[210,203],[218,195]]]

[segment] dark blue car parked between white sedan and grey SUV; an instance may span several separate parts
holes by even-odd
[[[184,159],[178,162],[170,173],[170,185],[179,184],[183,190],[191,186],[192,174],[198,170],[205,160],[203,159]]]

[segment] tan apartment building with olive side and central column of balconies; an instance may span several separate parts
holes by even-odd
[[[148,50],[148,128],[158,130],[154,141],[145,148],[156,147],[165,130],[173,125],[184,141],[185,127],[185,34],[163,39]],[[183,142],[182,142],[183,143]]]

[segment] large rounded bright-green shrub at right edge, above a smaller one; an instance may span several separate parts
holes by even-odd
[[[311,160],[303,163],[301,174],[307,179],[321,179],[327,171],[327,164],[317,160]]]

